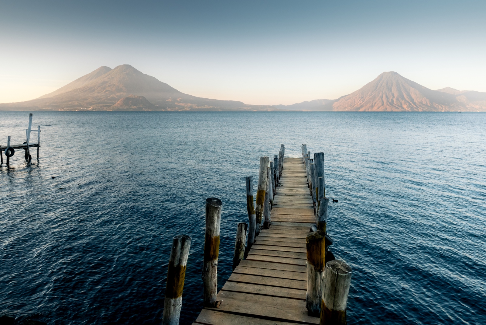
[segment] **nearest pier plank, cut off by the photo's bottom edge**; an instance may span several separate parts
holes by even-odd
[[[192,325],[295,325],[295,323],[271,321],[226,312],[203,309]]]

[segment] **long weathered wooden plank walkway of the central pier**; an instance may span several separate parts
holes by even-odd
[[[306,235],[315,224],[301,158],[284,158],[270,229],[262,229],[246,260],[219,291],[219,308],[204,308],[194,324],[319,324],[307,315]]]

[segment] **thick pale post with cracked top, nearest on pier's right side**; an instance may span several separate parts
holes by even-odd
[[[320,325],[346,325],[346,306],[352,269],[343,261],[326,263]]]

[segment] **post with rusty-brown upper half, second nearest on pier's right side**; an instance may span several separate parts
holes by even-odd
[[[316,231],[306,236],[307,247],[307,293],[306,307],[309,316],[321,312],[324,267],[326,263],[325,231]]]

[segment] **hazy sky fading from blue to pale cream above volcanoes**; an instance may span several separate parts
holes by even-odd
[[[0,103],[120,64],[246,104],[334,99],[383,71],[486,91],[486,1],[0,0]]]

